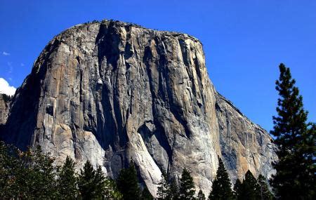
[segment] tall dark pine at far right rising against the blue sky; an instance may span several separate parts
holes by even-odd
[[[270,182],[278,199],[315,199],[315,132],[306,124],[308,112],[290,69],[280,64],[279,71],[278,115],[273,116],[270,132],[275,136],[279,161],[273,164],[277,173]]]

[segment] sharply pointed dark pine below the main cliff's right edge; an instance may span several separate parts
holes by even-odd
[[[232,184],[225,169],[222,159],[218,157],[218,170],[213,180],[212,191],[209,199],[232,199]]]

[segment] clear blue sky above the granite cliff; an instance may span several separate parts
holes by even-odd
[[[316,1],[1,0],[0,19],[0,77],[15,87],[53,36],[82,22],[114,19],[197,37],[217,91],[268,131],[277,66],[284,62],[316,121]]]

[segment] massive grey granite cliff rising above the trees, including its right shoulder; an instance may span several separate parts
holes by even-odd
[[[222,156],[230,178],[270,175],[275,146],[218,95],[192,36],[124,22],[77,25],[55,36],[15,93],[1,137],[41,145],[58,163],[89,159],[116,177],[136,162],[156,194],[161,172],[184,167],[208,194]]]

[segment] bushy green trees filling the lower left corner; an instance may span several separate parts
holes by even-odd
[[[0,194],[5,199],[53,199],[58,196],[55,187],[54,159],[34,151],[20,152],[13,146],[0,145]]]

